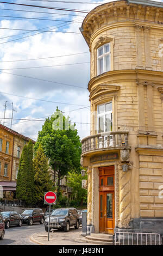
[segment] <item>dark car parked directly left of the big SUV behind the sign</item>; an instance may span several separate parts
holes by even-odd
[[[35,222],[43,224],[45,217],[41,209],[27,209],[22,212],[22,221],[28,225],[32,225]]]

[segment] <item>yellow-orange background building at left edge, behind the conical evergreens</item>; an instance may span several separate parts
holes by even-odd
[[[16,191],[18,164],[23,147],[30,138],[0,124],[0,185],[4,198],[13,198]],[[35,141],[33,141],[33,144]]]

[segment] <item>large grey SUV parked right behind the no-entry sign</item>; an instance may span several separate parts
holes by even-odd
[[[48,232],[48,218],[45,220],[45,230]],[[52,212],[50,216],[51,229],[62,229],[68,232],[74,225],[75,229],[79,228],[79,214],[75,208],[59,208]]]

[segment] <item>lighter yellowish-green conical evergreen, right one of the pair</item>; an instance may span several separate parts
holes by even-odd
[[[51,175],[48,171],[48,159],[43,152],[42,145],[39,145],[33,160],[34,163],[34,188],[35,203],[43,204],[44,193],[53,191]]]

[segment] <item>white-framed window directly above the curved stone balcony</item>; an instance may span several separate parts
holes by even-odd
[[[112,102],[97,106],[98,133],[112,131]]]

